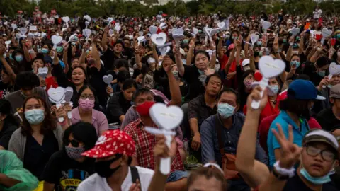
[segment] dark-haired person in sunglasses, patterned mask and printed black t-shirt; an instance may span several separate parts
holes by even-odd
[[[81,156],[94,147],[96,129],[88,122],[77,122],[64,132],[64,149],[55,152],[44,172],[44,190],[77,190],[81,181],[94,173],[94,159]]]

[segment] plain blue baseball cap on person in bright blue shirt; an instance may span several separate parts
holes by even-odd
[[[311,81],[297,79],[290,83],[287,91],[288,98],[297,100],[325,100],[324,96],[317,95],[317,88]]]

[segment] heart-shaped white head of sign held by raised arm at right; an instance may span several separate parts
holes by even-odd
[[[263,56],[259,60],[259,69],[262,76],[267,79],[280,75],[285,70],[285,62],[281,59],[273,59],[271,56]]]

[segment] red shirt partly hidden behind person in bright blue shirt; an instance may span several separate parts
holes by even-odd
[[[261,121],[260,126],[259,126],[260,145],[262,146],[264,151],[266,151],[267,154],[268,154],[267,137],[268,137],[269,127],[271,127],[271,123],[273,122],[273,120],[275,120],[277,116],[278,114],[265,117]],[[319,125],[319,122],[317,122],[317,120],[315,120],[313,117],[310,117],[310,120],[308,120],[307,122],[308,122],[308,126],[310,127],[310,129],[322,129],[321,125]]]

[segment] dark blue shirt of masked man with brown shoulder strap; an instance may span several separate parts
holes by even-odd
[[[226,154],[236,154],[239,134],[241,134],[244,120],[245,117],[242,113],[234,113],[234,115],[232,115],[232,127],[229,129],[224,128],[220,120],[217,121],[222,127],[221,137]],[[200,140],[202,143],[202,163],[216,161],[222,166],[222,156],[220,153],[220,146],[218,145],[215,115],[208,117],[200,126]],[[262,163],[267,163],[266,153],[259,145],[259,141],[256,142],[255,158]]]

